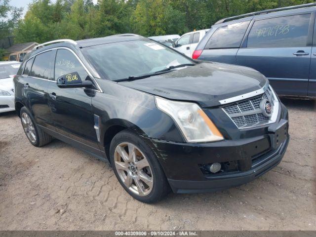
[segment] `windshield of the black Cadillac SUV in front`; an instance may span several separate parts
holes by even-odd
[[[155,73],[170,66],[192,64],[178,52],[152,40],[107,43],[83,48],[101,77],[111,80]]]

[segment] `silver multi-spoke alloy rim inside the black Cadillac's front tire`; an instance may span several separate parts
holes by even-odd
[[[118,144],[114,160],[120,180],[131,192],[139,196],[151,193],[154,185],[152,169],[138,147],[129,142]]]

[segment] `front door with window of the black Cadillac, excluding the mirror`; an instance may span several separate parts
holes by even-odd
[[[55,81],[66,74],[77,72],[82,81],[88,73],[75,54],[68,49],[57,49],[54,69]],[[89,88],[59,88],[56,83],[48,87],[48,105],[53,120],[53,130],[75,142],[85,150],[98,147],[94,129],[91,102],[94,91]],[[71,141],[69,141],[71,142]]]

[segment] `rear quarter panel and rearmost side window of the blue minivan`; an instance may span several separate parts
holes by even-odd
[[[217,28],[198,59],[236,64],[236,54],[249,23],[244,21]]]

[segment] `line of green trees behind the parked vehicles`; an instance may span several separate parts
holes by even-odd
[[[15,42],[81,40],[113,34],[182,35],[243,13],[313,0],[33,0],[22,9],[0,0],[0,37]]]

